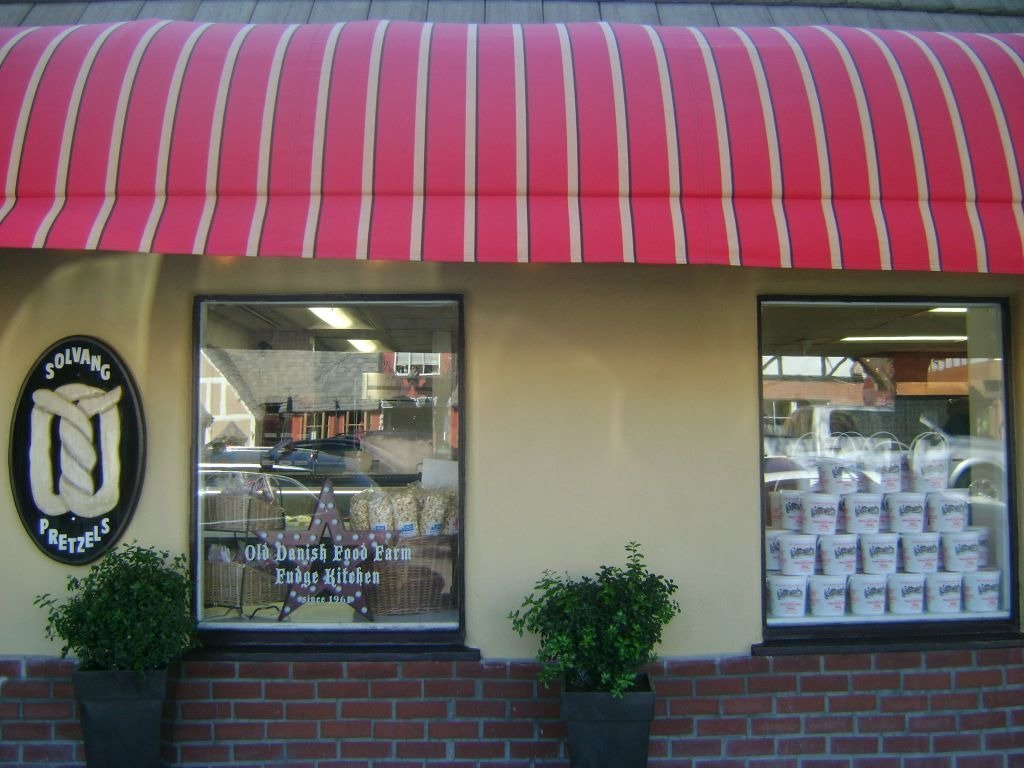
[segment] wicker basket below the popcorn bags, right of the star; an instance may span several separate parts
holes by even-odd
[[[380,584],[367,590],[371,617],[436,613],[450,607],[455,577],[455,537],[421,536],[399,539],[408,560],[374,563]]]

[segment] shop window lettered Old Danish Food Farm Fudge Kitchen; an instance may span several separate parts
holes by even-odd
[[[197,327],[201,629],[458,633],[459,300],[208,298]]]

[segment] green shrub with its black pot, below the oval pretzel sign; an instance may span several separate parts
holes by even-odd
[[[82,578],[66,600],[46,594],[46,637],[72,675],[89,768],[158,766],[167,668],[197,644],[191,582],[183,555],[122,545]]]

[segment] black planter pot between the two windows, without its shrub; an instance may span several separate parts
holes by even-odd
[[[562,691],[562,720],[572,768],[644,768],[654,691],[646,675],[622,698],[610,693]]]

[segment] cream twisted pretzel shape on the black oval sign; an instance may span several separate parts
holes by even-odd
[[[29,476],[32,498],[40,512],[50,516],[72,512],[92,518],[117,507],[121,485],[121,417],[117,404],[121,394],[120,386],[104,391],[81,383],[32,393]],[[93,426],[96,417],[98,436]],[[60,438],[56,473],[51,445],[54,419],[58,420]],[[97,463],[102,478],[99,488],[93,481]]]

